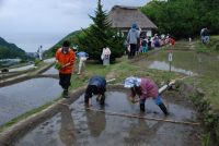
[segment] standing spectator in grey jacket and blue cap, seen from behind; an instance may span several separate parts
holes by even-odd
[[[139,31],[138,31],[139,28]],[[127,42],[130,44],[130,59],[135,57],[137,39],[140,37],[141,28],[136,24],[132,24],[132,28],[128,32]]]

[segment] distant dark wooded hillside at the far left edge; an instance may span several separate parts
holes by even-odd
[[[25,51],[16,47],[14,44],[7,42],[3,38],[0,37],[0,59],[13,59],[20,58],[25,60],[27,56]]]

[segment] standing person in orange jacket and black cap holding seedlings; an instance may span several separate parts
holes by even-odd
[[[58,70],[59,71],[59,85],[64,88],[64,98],[70,98],[68,96],[68,88],[71,85],[71,73],[74,62],[74,53],[69,48],[70,42],[64,41],[62,48],[59,48],[56,52],[56,63],[60,62],[64,65]]]

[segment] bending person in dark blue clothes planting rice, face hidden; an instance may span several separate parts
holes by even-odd
[[[93,76],[90,80],[90,83],[85,90],[84,102],[89,102],[89,106],[92,106],[92,94],[100,95],[99,99],[101,100],[100,105],[104,105],[105,97],[104,93],[106,92],[106,80],[101,76]]]

